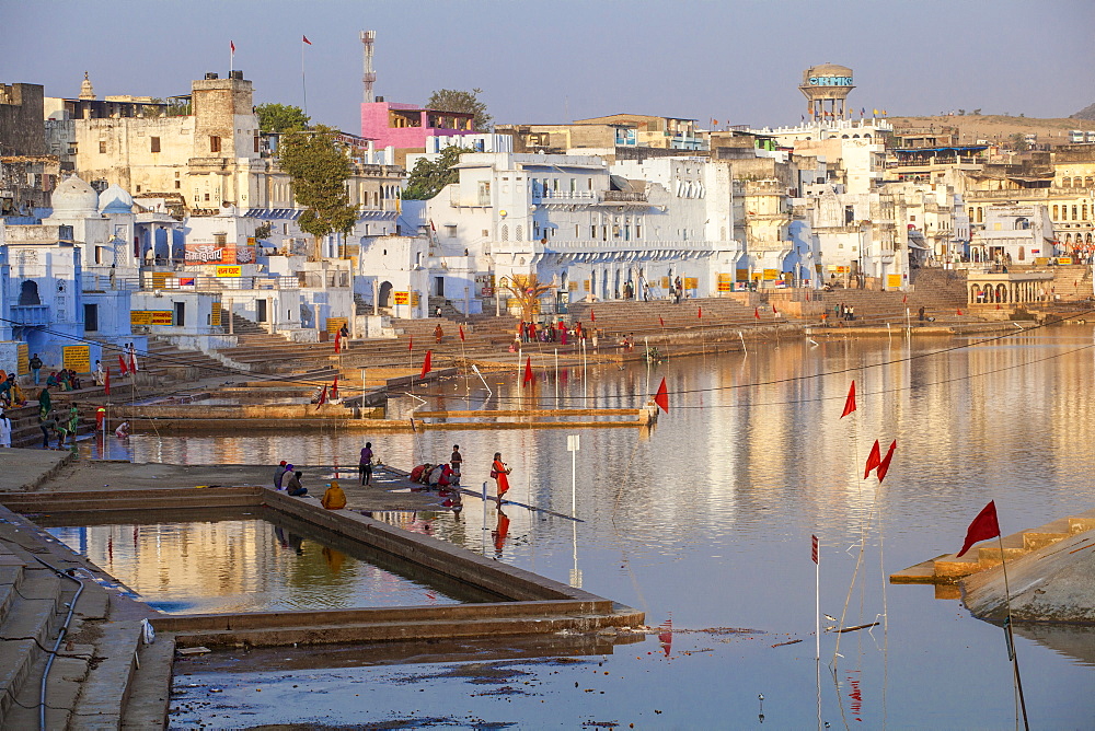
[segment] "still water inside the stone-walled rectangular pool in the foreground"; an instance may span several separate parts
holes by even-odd
[[[436,589],[265,521],[53,527],[163,612],[203,614],[453,604]]]

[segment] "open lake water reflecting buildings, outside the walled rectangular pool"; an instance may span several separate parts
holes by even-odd
[[[989,500],[1005,534],[1095,507],[1093,346],[1090,326],[980,339],[896,335],[814,346],[796,338],[746,355],[591,368],[586,382],[572,369],[560,379],[564,405],[619,407],[641,405],[665,376],[670,413],[649,432],[137,436],[128,449],[142,462],[306,467],[353,464],[365,439],[397,466],[443,460],[458,442],[465,486],[486,480],[500,451],[514,469],[508,497],[570,512],[566,438],[579,433],[575,501],[585,522],[506,508],[503,542],[494,507],[484,515],[480,501],[465,499],[459,520],[431,520],[433,533],[580,582],[644,610],[648,625],[671,618],[678,630],[668,654],[652,637],[588,662],[496,663],[492,672],[502,675],[492,677],[504,685],[473,682],[456,672],[459,663],[196,668],[183,676],[193,687],[182,688],[173,722],[216,712],[226,724],[807,728],[820,715],[834,728],[1013,728],[1002,630],[957,601],[934,599],[931,587],[890,585],[886,577],[956,550]],[[852,379],[858,409],[841,419]],[[516,368],[486,380],[492,407],[532,397],[521,394]],[[419,395],[426,408],[474,408],[486,395],[477,383],[449,379]],[[542,405],[554,403],[553,381],[535,390]],[[875,439],[884,449],[897,440],[881,486],[861,479]],[[821,542],[821,611],[845,626],[881,623],[841,635],[839,647],[834,633],[822,634],[820,711],[811,534]],[[693,631],[704,629],[716,631]],[[1093,646],[1092,630],[1062,642],[1017,638],[1031,727],[1095,726]],[[484,693],[483,683],[510,691]],[[211,685],[222,693],[208,695]],[[269,703],[272,694],[255,694],[263,686],[284,695]]]

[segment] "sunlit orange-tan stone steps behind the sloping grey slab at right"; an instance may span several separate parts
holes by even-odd
[[[964,577],[999,566],[1005,558],[1012,560],[1045,548],[1071,535],[1095,529],[1095,510],[1061,518],[1036,529],[1025,529],[1017,533],[995,538],[973,546],[960,558],[956,554],[944,554],[933,559],[910,566],[903,571],[890,575],[891,583],[955,583]],[[1003,544],[1001,553],[1000,544]]]

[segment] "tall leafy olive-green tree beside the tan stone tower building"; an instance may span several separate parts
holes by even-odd
[[[346,189],[350,160],[337,134],[316,125],[281,135],[278,141],[278,164],[289,175],[293,198],[307,209],[297,225],[312,234],[312,259],[319,258],[320,236],[349,233],[357,221],[357,209],[350,205]]]

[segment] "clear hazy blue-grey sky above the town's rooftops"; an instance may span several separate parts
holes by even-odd
[[[1093,0],[0,0],[0,81],[168,96],[235,67],[255,101],[359,131],[361,44],[377,94],[483,89],[496,123],[614,113],[794,124],[809,66],[854,71],[852,107],[1063,117],[1095,102]]]

